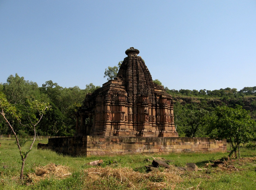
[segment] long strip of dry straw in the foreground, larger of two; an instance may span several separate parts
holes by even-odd
[[[131,168],[93,167],[84,170],[84,173],[87,174],[86,179],[88,183],[112,178],[116,183],[127,185],[133,189],[140,187],[142,183],[146,183],[146,188],[148,189],[162,189],[168,186],[175,188],[176,183],[182,181],[179,176],[182,174],[182,171],[177,170],[175,167],[149,173],[140,173],[133,171]]]

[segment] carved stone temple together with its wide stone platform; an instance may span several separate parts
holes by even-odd
[[[117,77],[87,94],[75,113],[75,136],[49,138],[38,148],[85,156],[227,151],[226,140],[178,137],[172,97],[153,83],[138,49],[125,53]]]

